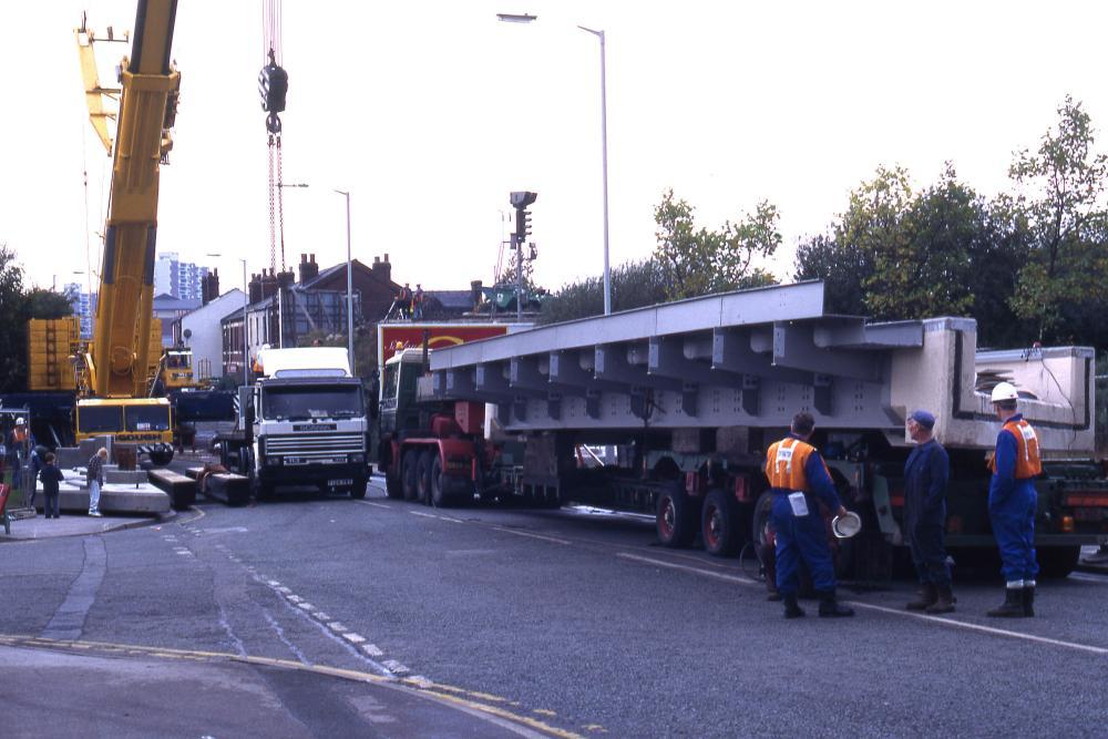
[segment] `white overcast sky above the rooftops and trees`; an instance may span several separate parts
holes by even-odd
[[[394,279],[430,289],[490,284],[507,194],[533,189],[537,280],[599,275],[599,44],[581,23],[607,32],[612,264],[650,254],[653,208],[673,187],[710,228],[774,203],[786,278],[798,239],[880,164],[925,185],[951,160],[992,194],[1067,93],[1104,131],[1104,8],[285,0],[285,182],[310,184],[285,191],[286,260],[346,258],[342,188],[356,258],[388,253]],[[45,287],[85,279],[72,273],[86,240],[100,264],[111,162],[85,115],[72,32],[84,9],[101,35],[134,22],[131,1],[0,3],[0,242]],[[124,50],[101,48],[113,63]],[[182,102],[158,250],[217,267],[226,290],[240,257],[269,266],[260,0],[181,0],[173,57]]]

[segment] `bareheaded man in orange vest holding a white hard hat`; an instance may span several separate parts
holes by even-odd
[[[766,476],[773,491],[770,520],[777,531],[777,589],[784,602],[784,617],[804,612],[797,605],[797,568],[803,558],[820,599],[820,616],[853,616],[851,608],[835,601],[834,565],[818,501],[839,515],[847,509],[839,502],[831,473],[815,448],[808,443],[815,430],[809,413],[797,413],[791,433],[770,445],[766,454]]]

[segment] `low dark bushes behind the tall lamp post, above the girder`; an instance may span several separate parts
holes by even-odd
[[[612,310],[630,310],[666,301],[661,270],[653,259],[629,261],[612,269]],[[562,287],[543,304],[540,324],[602,316],[604,278],[587,277]]]

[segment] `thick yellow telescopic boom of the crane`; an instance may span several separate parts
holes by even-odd
[[[160,170],[173,146],[181,75],[170,61],[176,0],[140,0],[131,58],[120,71],[119,126],[100,301],[88,357],[101,398],[147,394]]]

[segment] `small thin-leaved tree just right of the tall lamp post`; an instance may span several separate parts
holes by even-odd
[[[730,220],[721,230],[697,229],[695,211],[674,191],[663,194],[654,211],[657,245],[654,261],[661,270],[666,297],[691,298],[746,287],[772,285],[772,275],[755,267],[756,258],[766,258],[781,244],[777,208],[759,203],[753,213],[738,223]]]

